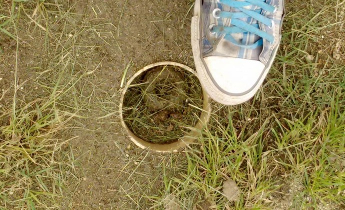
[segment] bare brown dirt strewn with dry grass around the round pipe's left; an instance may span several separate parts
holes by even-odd
[[[11,31],[20,37],[18,46],[12,38],[0,35],[0,89],[8,90],[0,101],[0,110],[12,102],[15,68],[17,99],[21,103],[45,95],[45,88],[49,87],[41,84],[55,81],[49,75],[57,76],[49,72],[56,67],[86,72],[76,94],[83,97],[78,114],[87,118],[76,119],[73,129],[61,133],[64,138],[71,138],[64,150],[72,154],[74,161],[70,170],[64,172],[68,196],[58,200],[60,209],[152,207],[152,200],[160,196],[166,179],[179,176],[185,154],[155,154],[130,142],[117,117],[119,86],[130,61],[133,64],[126,78],[157,61],[177,61],[192,67],[192,0],[49,2],[45,10],[39,3],[26,8],[25,21]],[[0,3],[10,7],[9,0]],[[318,47],[323,50],[328,45],[330,56],[342,63],[344,53],[340,45],[344,40],[338,37],[333,44],[320,42]],[[66,103],[73,106],[80,102],[75,101],[77,98],[66,96]]]

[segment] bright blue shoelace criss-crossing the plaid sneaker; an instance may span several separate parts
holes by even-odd
[[[221,25],[210,25],[210,32],[211,33],[225,33],[224,38],[232,42],[233,44],[254,49],[263,44],[263,39],[266,39],[270,43],[273,43],[274,37],[273,35],[259,29],[258,23],[249,24],[239,18],[248,18],[252,17],[253,19],[261,22],[268,27],[273,27],[273,20],[265,17],[264,15],[260,14],[262,9],[268,12],[275,12],[276,8],[272,5],[265,3],[265,0],[217,0],[218,3],[228,5],[230,7],[236,8],[238,12],[229,12],[229,11],[222,11],[219,8],[213,10],[213,16],[215,18],[231,18],[231,26],[221,26]],[[250,10],[244,8],[245,6],[258,6],[260,9]],[[253,33],[260,37],[256,42],[252,44],[241,44],[236,41],[232,33]]]

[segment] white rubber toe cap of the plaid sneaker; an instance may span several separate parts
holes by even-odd
[[[234,57],[208,56],[204,61],[215,85],[235,95],[250,91],[265,68],[258,60]]]

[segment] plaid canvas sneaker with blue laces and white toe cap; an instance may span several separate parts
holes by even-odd
[[[191,46],[208,95],[235,105],[250,99],[281,39],[284,0],[196,0]]]

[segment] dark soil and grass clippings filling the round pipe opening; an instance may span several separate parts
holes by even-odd
[[[202,89],[195,75],[177,66],[162,65],[139,75],[123,99],[123,119],[140,138],[171,143],[198,121]]]

